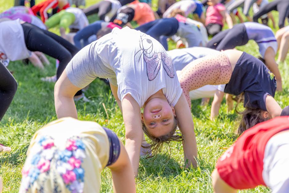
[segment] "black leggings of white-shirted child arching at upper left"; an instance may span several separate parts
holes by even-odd
[[[70,62],[72,57],[78,52],[77,47],[73,46],[60,36],[50,31],[42,30],[30,23],[23,23],[21,25],[24,31],[24,40],[28,50],[32,52],[40,51],[59,60],[59,66],[56,71],[56,78],[58,80],[68,62]],[[81,90],[75,95],[80,94]]]

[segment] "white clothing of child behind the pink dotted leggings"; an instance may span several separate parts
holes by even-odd
[[[172,58],[172,62],[174,63],[178,76],[180,74],[180,70],[182,70],[186,65],[195,59],[218,53],[219,51],[206,47],[192,47],[168,51],[168,55]],[[201,98],[214,97],[214,94],[217,90],[224,92],[225,86],[225,84],[202,86],[196,90],[191,90],[189,92],[190,98],[191,100],[196,100]]]

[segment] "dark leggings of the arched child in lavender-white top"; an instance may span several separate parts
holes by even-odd
[[[243,23],[232,29],[221,31],[208,42],[207,47],[215,50],[228,50],[236,46],[243,46],[249,41],[246,27]]]

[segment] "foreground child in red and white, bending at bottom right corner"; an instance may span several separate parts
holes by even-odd
[[[214,192],[233,193],[259,185],[275,193],[288,192],[288,138],[289,116],[245,131],[216,163],[212,172]]]

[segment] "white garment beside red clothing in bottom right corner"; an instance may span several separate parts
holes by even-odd
[[[263,180],[272,193],[289,192],[289,132],[268,141],[263,159]]]

